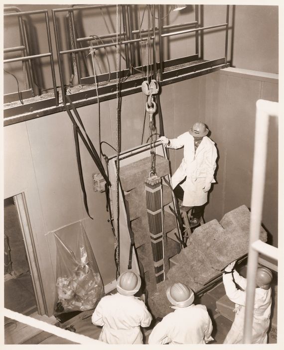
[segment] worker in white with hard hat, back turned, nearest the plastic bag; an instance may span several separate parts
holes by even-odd
[[[140,276],[127,271],[117,280],[117,294],[103,297],[96,307],[92,323],[103,326],[99,340],[108,344],[143,344],[140,326],[148,327],[152,316],[145,304],[136,298]]]

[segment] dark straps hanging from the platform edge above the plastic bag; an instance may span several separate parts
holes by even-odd
[[[83,196],[84,196],[84,204],[85,204],[85,208],[86,208],[87,214],[89,215],[89,217],[91,219],[93,219],[91,217],[91,215],[89,214],[89,209],[88,209],[87,194],[86,194],[86,190],[85,190],[84,178],[83,178],[83,172],[82,172],[82,165],[81,165],[81,157],[80,157],[78,134],[80,135],[80,137],[81,137],[85,147],[87,148],[87,150],[88,150],[90,156],[92,157],[94,163],[96,164],[98,170],[103,175],[107,186],[111,186],[111,182],[110,182],[108,176],[106,175],[105,169],[104,169],[103,164],[102,164],[102,162],[101,162],[101,160],[99,158],[99,155],[98,155],[98,153],[97,153],[97,151],[96,151],[96,149],[95,149],[91,139],[89,138],[89,136],[88,136],[88,134],[87,134],[87,132],[86,132],[86,130],[84,128],[84,125],[83,125],[82,120],[81,120],[81,118],[79,116],[79,113],[77,112],[77,110],[76,110],[74,104],[72,103],[70,97],[68,95],[66,97],[67,97],[67,99],[68,99],[68,101],[69,101],[69,103],[70,103],[70,105],[71,105],[71,107],[73,109],[73,112],[76,115],[76,117],[77,117],[77,119],[78,119],[82,129],[84,130],[84,132],[86,134],[86,137],[87,137],[87,140],[89,142],[89,143],[87,142],[87,140],[85,139],[85,137],[84,137],[82,131],[80,130],[78,124],[76,123],[76,121],[75,121],[75,119],[74,119],[74,117],[73,117],[73,115],[72,115],[72,113],[70,111],[70,107],[67,106],[64,103],[64,106],[66,108],[66,112],[68,113],[68,115],[69,115],[69,117],[70,117],[70,119],[72,121],[72,124],[73,124],[73,134],[74,134],[75,148],[76,148],[76,159],[77,159],[77,165],[78,165],[78,171],[79,171],[79,177],[80,177],[80,184],[81,184],[81,188],[82,188],[82,192],[83,192]]]

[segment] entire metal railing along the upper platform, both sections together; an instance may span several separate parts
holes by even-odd
[[[152,51],[152,62],[154,64],[148,65],[149,68],[149,74],[151,77],[154,77],[154,79],[157,79],[161,82],[161,84],[170,84],[172,79],[175,79],[177,81],[179,76],[184,76],[190,74],[192,77],[197,76],[199,74],[205,74],[205,73],[198,73],[200,70],[206,71],[207,73],[214,71],[218,69],[218,67],[224,67],[224,65],[227,63],[227,51],[228,51],[228,29],[229,29],[229,5],[227,5],[227,17],[226,22],[222,24],[216,24],[216,25],[210,25],[210,26],[202,26],[199,27],[199,5],[195,5],[195,20],[180,24],[170,24],[170,25],[163,25],[163,17],[162,17],[162,10],[163,5],[146,5],[148,6],[148,21],[149,25],[151,26],[148,29],[136,29],[133,28],[134,24],[132,22],[133,17],[133,11],[136,11],[137,9],[133,7],[133,5],[119,5],[121,10],[121,18],[122,18],[122,32],[121,33],[111,33],[108,28],[108,33],[102,33],[99,38],[101,39],[110,39],[112,42],[94,42],[96,39],[96,35],[94,36],[82,36],[80,37],[77,33],[76,28],[76,18],[75,18],[75,12],[79,10],[88,10],[88,14],[90,14],[90,10],[101,10],[104,8],[115,8],[116,4],[102,4],[102,5],[71,5],[70,7],[64,7],[64,8],[57,8],[52,9],[52,19],[53,19],[53,27],[54,27],[54,35],[55,35],[55,45],[56,45],[56,53],[57,53],[57,61],[58,61],[58,70],[59,70],[59,79],[60,79],[60,88],[62,92],[62,99],[63,103],[65,103],[65,94],[66,94],[66,87],[68,84],[65,83],[65,69],[62,57],[63,55],[70,55],[73,62],[71,62],[71,70],[72,70],[72,77],[75,76],[76,73],[76,84],[78,82],[78,85],[85,84],[89,85],[91,82],[93,76],[95,75],[95,72],[91,75],[88,72],[88,65],[87,65],[87,59],[84,55],[85,51],[91,52],[91,50],[97,50],[101,48],[108,48],[108,47],[115,47],[116,46],[116,38],[117,35],[119,35],[118,45],[122,47],[122,51],[124,51],[125,55],[125,61],[126,61],[126,69],[122,71],[121,76],[124,79],[124,83],[122,84],[122,89],[130,89],[130,88],[136,88],[142,84],[141,79],[143,80],[144,72],[146,71],[146,66],[139,66],[137,65],[137,57],[139,57],[139,54],[136,54],[136,45],[137,43],[147,43],[148,40],[150,40],[150,43],[148,43],[148,46],[155,47],[157,44],[157,52],[158,59],[156,60],[156,50],[150,50]],[[151,14],[150,14],[151,10]],[[59,105],[59,97],[58,97],[58,91],[56,89],[56,79],[55,79],[55,69],[54,69],[54,62],[53,62],[53,54],[52,54],[52,45],[51,45],[51,37],[50,37],[50,28],[49,28],[49,21],[48,21],[48,13],[47,10],[35,10],[35,11],[20,11],[19,8],[15,6],[10,7],[4,7],[4,11],[16,11],[15,13],[4,13],[4,17],[12,17],[17,16],[19,21],[19,31],[20,31],[20,45],[15,47],[9,47],[4,49],[4,53],[11,53],[11,52],[21,52],[21,57],[16,58],[9,58],[3,61],[4,64],[8,63],[14,63],[14,62],[23,62],[23,66],[26,67],[26,75],[28,80],[29,87],[34,90],[34,82],[32,79],[31,74],[31,68],[33,64],[33,60],[36,58],[44,58],[49,57],[50,59],[50,67],[51,67],[51,75],[52,75],[52,82],[53,82],[53,90],[55,95],[55,104],[56,106]],[[67,49],[62,49],[62,42],[63,37],[61,37],[60,30],[58,28],[58,14],[66,12],[66,17],[69,20],[69,47],[67,46]],[[31,55],[29,54],[29,43],[27,42],[28,37],[26,38],[25,35],[25,23],[24,23],[24,17],[28,15],[36,15],[36,14],[43,14],[45,16],[45,23],[46,23],[46,33],[47,33],[47,40],[48,40],[48,51],[47,53],[40,53],[38,55]],[[156,17],[155,17],[156,16]],[[155,18],[158,19],[158,26],[156,26]],[[150,21],[151,19],[151,21]],[[151,23],[151,24],[150,24]],[[193,27],[193,28],[192,28]],[[222,57],[217,60],[213,61],[205,61],[199,59],[199,33],[210,30],[210,29],[225,29],[226,30],[226,40],[225,40],[225,57]],[[191,56],[181,57],[181,58],[175,58],[168,61],[164,61],[164,53],[163,53],[163,40],[164,38],[168,38],[175,35],[190,35],[195,33],[195,54]],[[115,38],[115,40],[113,40]],[[65,39],[64,39],[65,40]],[[85,42],[89,41],[89,45],[85,45]],[[71,47],[71,48],[70,48]],[[85,72],[82,71],[82,61],[81,56],[83,58],[84,68]],[[142,62],[142,57],[140,58]],[[150,60],[151,61],[151,60]],[[194,65],[186,65],[187,63],[191,63],[194,61]],[[202,61],[202,62],[201,62]],[[184,65],[183,65],[184,64]],[[175,66],[179,68],[174,68]],[[110,67],[110,66],[109,66]],[[215,68],[216,67],[216,68]],[[220,68],[219,68],[220,69]],[[109,69],[111,70],[111,69]],[[130,83],[127,80],[127,76],[134,75],[137,71],[142,72],[142,78],[135,78]],[[97,82],[107,82],[111,79],[115,79],[115,73],[116,72],[109,72],[109,74],[102,73],[97,76]],[[158,74],[158,77],[156,78],[156,75]],[[163,78],[164,75],[164,78]],[[73,79],[73,78],[72,78]],[[180,78],[185,79],[185,78]],[[70,82],[71,79],[70,79]],[[75,85],[76,85],[75,84]],[[69,84],[71,85],[71,84]],[[112,83],[110,84],[112,85]],[[49,90],[45,89],[45,90]],[[98,92],[98,94],[101,93],[112,93],[113,88],[112,87],[102,87],[98,88],[98,90],[90,89],[90,91],[85,93],[85,100],[94,97],[95,94]],[[93,92],[92,92],[93,91]],[[23,91],[25,92],[25,91]],[[26,94],[25,94],[26,95]],[[87,97],[86,97],[87,96]],[[76,98],[76,96],[73,96]],[[79,96],[78,96],[79,97]],[[47,103],[47,102],[46,102]],[[50,103],[54,103],[51,102]],[[92,101],[89,101],[89,103],[93,103]],[[47,105],[47,104],[46,104]],[[13,113],[12,111],[10,113]],[[9,114],[9,113],[8,113]],[[5,112],[5,115],[7,115],[7,112]]]

